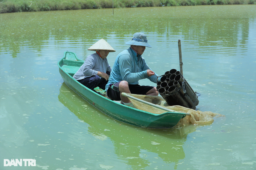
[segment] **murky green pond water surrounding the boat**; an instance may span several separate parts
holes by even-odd
[[[256,5],[89,9],[0,14],[1,170],[256,169]],[[79,59],[104,38],[113,66],[135,32],[158,75],[179,70],[212,124],[143,129],[119,122],[63,83],[64,51]],[[155,86],[149,80],[141,85]],[[36,159],[36,166],[4,166]]]

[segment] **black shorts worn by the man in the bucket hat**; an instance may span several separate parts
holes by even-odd
[[[120,98],[120,92],[119,92],[119,81],[118,83],[115,84],[110,84],[107,90],[107,96],[111,100],[121,100]],[[139,84],[129,84],[129,89],[132,94],[137,94],[137,95],[146,95],[146,93],[153,89],[153,86],[140,86]]]

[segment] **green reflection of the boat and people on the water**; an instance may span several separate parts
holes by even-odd
[[[88,133],[92,136],[98,140],[111,140],[118,159],[125,161],[133,169],[138,168],[138,162],[140,168],[143,168],[150,166],[152,160],[157,162],[162,159],[166,163],[179,163],[185,158],[182,145],[186,142],[188,134],[185,133],[186,128],[142,129],[121,122],[115,123],[116,120],[105,114],[95,114],[95,109],[92,109],[88,102],[83,101],[81,104],[81,98],[74,95],[76,93],[73,90],[62,84],[59,101],[81,121],[87,123]],[[189,131],[195,131],[196,126],[189,128]],[[76,146],[82,147],[79,143]]]

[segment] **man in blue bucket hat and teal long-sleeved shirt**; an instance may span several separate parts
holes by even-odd
[[[157,83],[158,75],[148,67],[145,59],[141,56],[146,47],[151,48],[145,34],[135,33],[132,40],[125,44],[131,45],[131,47],[122,51],[116,57],[106,85],[106,91],[110,99],[121,100],[123,104],[132,107],[129,98],[122,96],[121,93],[157,96],[156,87],[140,86],[139,80],[148,78],[150,81]]]

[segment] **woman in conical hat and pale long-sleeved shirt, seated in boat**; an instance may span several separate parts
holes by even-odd
[[[97,41],[88,50],[96,51],[96,53],[85,59],[84,64],[73,78],[94,92],[96,92],[95,87],[105,90],[111,72],[107,56],[109,52],[115,52],[115,50],[104,39]]]

